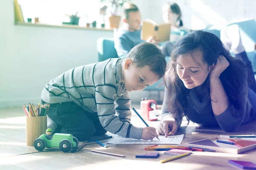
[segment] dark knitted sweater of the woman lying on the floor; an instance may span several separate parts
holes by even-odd
[[[206,95],[199,99],[195,88],[193,88],[189,90],[189,94],[187,96],[188,108],[184,110],[184,114],[192,122],[209,126],[219,125],[222,130],[232,132],[236,130],[242,123],[249,122],[256,116],[256,111],[251,105],[252,101],[250,101],[250,98],[248,98],[248,94],[253,93],[253,91],[249,89],[248,94],[244,93],[244,91],[247,91],[247,89],[247,82],[244,82],[244,85],[239,90],[239,96],[241,96],[242,101],[239,109],[236,109],[234,105],[229,103],[227,109],[217,116],[212,111],[211,100],[208,99]],[[162,118],[168,114],[171,114],[175,118],[178,127],[180,127],[183,116],[180,115],[175,117],[172,113],[169,112],[169,93],[172,92],[169,92],[168,89],[165,89]]]

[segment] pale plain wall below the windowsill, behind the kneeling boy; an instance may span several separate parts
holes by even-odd
[[[41,102],[50,79],[97,62],[96,40],[113,37],[113,31],[14,25],[12,0],[0,0],[0,11],[0,107]]]

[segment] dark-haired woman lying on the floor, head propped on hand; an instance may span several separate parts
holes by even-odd
[[[158,134],[175,135],[183,116],[227,132],[254,119],[256,94],[248,88],[241,60],[247,56],[245,51],[237,56],[231,57],[221,40],[206,31],[193,31],[177,41],[166,72]]]

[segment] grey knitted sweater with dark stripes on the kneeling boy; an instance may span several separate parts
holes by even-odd
[[[85,111],[98,113],[105,130],[140,139],[142,128],[131,125],[131,99],[122,77],[122,59],[108,59],[66,71],[52,79],[41,98],[47,103],[76,102]]]

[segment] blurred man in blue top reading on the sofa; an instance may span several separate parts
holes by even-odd
[[[141,15],[139,8],[132,3],[123,5],[123,26],[114,35],[115,48],[118,57],[124,58],[131,48],[145,42],[140,39]],[[156,42],[153,37],[149,37],[147,42]]]

